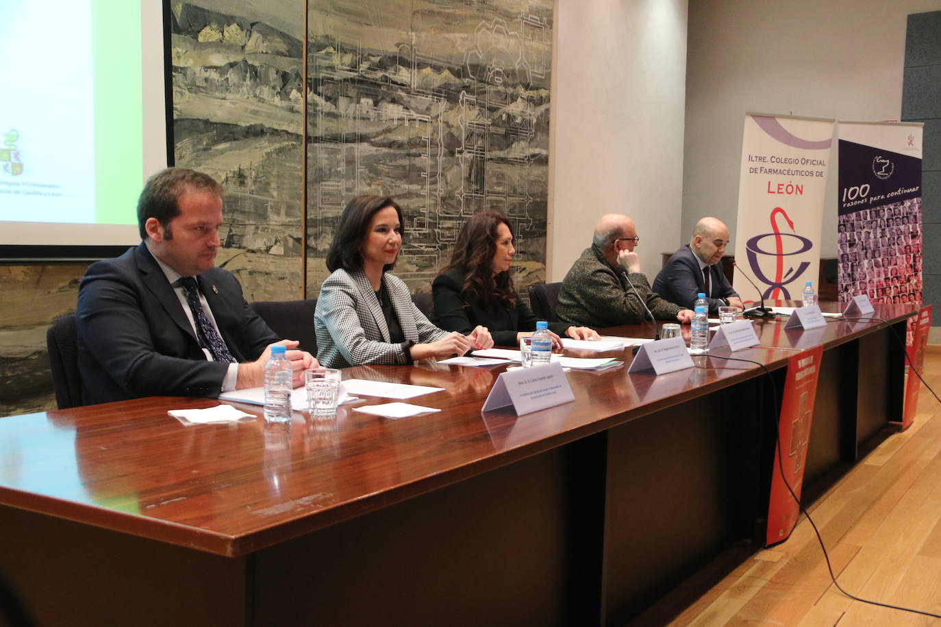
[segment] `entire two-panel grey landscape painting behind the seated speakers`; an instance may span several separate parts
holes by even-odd
[[[482,210],[513,223],[520,294],[545,280],[551,0],[198,0],[170,13],[176,164],[226,188],[218,260],[248,300],[300,297],[302,256],[315,298],[358,194],[405,210],[395,274],[413,291]]]

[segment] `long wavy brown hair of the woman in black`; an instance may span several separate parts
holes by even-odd
[[[457,234],[451,263],[441,272],[457,270],[464,274],[464,293],[485,308],[500,301],[504,306],[517,304],[510,273],[493,274],[493,256],[497,254],[497,229],[506,225],[513,235],[509,220],[497,212],[474,213]]]

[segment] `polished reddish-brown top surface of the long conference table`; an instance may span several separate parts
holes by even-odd
[[[876,306],[890,322],[916,311]],[[377,398],[343,406],[335,420],[295,414],[270,426],[260,407],[243,404],[254,419],[183,425],[167,410],[218,401],[171,397],[9,416],[0,419],[0,504],[241,556],[760,375],[721,355],[781,368],[795,350],[829,348],[883,322],[830,321],[806,332],[784,324],[758,321],[760,346],[715,349],[695,357],[696,368],[660,377],[628,374],[630,349],[569,352],[625,365],[572,370],[574,402],[519,417],[481,411],[505,366],[440,364],[343,370],[344,379],[444,388],[408,401],[442,411],[394,420],[355,410],[389,401]],[[604,333],[653,337],[654,326]]]

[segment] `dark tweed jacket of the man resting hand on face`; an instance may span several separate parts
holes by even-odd
[[[656,318],[676,321],[682,307],[651,291],[645,274],[630,274],[630,282]],[[557,313],[561,321],[592,328],[637,324],[646,316],[624,274],[611,267],[595,244],[585,248],[563,279]]]

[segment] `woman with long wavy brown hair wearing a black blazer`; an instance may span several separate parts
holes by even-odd
[[[457,235],[451,263],[431,285],[435,320],[449,331],[469,333],[486,326],[499,346],[516,346],[519,338],[532,336],[536,318],[513,289],[510,264],[516,254],[513,228],[497,212],[475,213]],[[584,326],[550,322],[556,346],[559,336],[598,339]]]

